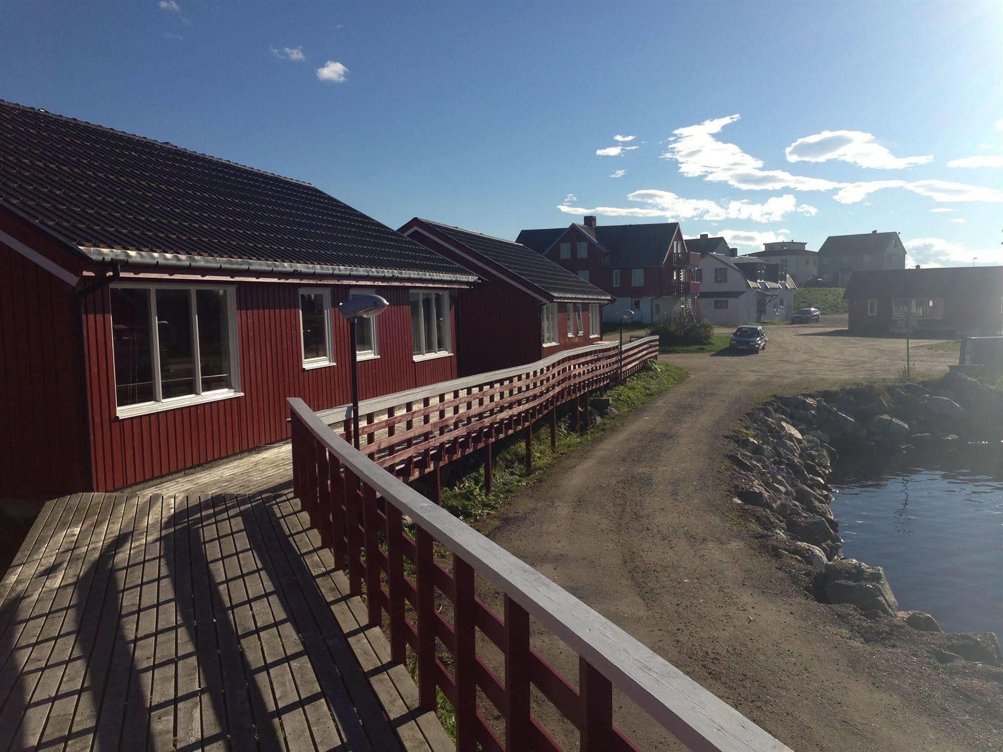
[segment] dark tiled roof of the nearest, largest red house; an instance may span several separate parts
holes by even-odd
[[[309,183],[2,100],[0,203],[79,248],[115,252],[92,258],[475,279]]]

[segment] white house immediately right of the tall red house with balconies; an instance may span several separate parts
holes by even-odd
[[[701,315],[718,326],[789,321],[797,286],[789,276],[778,277],[778,269],[777,265],[739,264],[728,256],[707,254],[700,262]]]

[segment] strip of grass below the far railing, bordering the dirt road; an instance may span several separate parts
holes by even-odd
[[[465,521],[474,521],[496,511],[501,501],[541,479],[548,467],[595,436],[619,425],[632,410],[686,378],[681,368],[652,362],[626,382],[607,390],[615,415],[603,418],[583,436],[573,430],[571,406],[558,412],[557,450],[551,450],[550,427],[537,422],[533,431],[533,469],[526,471],[526,434],[522,431],[494,443],[491,492],[484,489],[483,464],[479,453],[444,466],[442,508]],[[422,489],[420,483],[415,487]],[[423,489],[422,489],[423,490]]]

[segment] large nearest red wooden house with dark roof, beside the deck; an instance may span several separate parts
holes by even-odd
[[[309,183],[0,102],[0,497],[110,490],[289,435],[286,398],[457,375],[476,276]]]

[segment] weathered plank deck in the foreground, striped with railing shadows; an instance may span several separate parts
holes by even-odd
[[[2,750],[442,750],[289,494],[49,501],[0,583]]]

